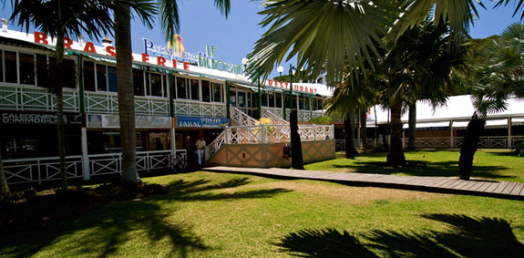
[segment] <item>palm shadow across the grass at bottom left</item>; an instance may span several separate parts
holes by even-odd
[[[163,201],[220,201],[269,198],[283,189],[241,191],[240,193],[202,193],[248,184],[247,178],[212,184],[211,181],[175,181],[171,191],[147,200],[123,201],[95,209],[75,220],[60,222],[33,231],[0,236],[0,256],[28,257],[46,249],[58,256],[89,255],[106,257],[128,253],[137,256],[187,257],[191,251],[212,250],[196,235],[190,224],[170,222],[174,212]],[[136,241],[136,237],[142,237]],[[132,241],[133,240],[133,241]],[[151,246],[162,253],[149,253]],[[122,250],[124,252],[122,252]],[[133,254],[135,250],[143,253]],[[156,249],[158,250],[158,248]],[[57,249],[58,252],[58,249]],[[150,251],[154,252],[154,251]]]

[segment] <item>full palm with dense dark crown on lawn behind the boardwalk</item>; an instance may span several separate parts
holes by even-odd
[[[401,114],[417,99],[425,99],[435,108],[446,102],[457,85],[456,74],[465,69],[463,49],[452,53],[447,24],[425,21],[408,29],[389,46],[385,56],[388,106],[391,108],[391,139],[387,162],[405,163],[402,150]],[[413,107],[416,108],[416,107]],[[413,120],[412,120],[413,121]]]

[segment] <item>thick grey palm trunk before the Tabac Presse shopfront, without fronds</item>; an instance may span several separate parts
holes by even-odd
[[[131,16],[128,5],[115,10],[115,46],[117,49],[118,114],[122,142],[122,181],[138,184],[135,96],[133,91],[133,67],[131,56]]]

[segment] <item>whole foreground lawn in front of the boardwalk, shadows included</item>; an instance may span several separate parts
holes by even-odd
[[[519,257],[524,201],[191,172],[0,239],[2,257]]]

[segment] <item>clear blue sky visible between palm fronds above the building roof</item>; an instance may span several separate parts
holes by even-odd
[[[519,18],[512,17],[514,8],[511,3],[507,7],[493,10],[490,1],[483,2],[487,10],[477,5],[479,18],[474,26],[470,27],[470,35],[473,38],[500,34],[505,27],[519,21]],[[241,65],[241,59],[252,51],[254,43],[266,30],[258,25],[263,19],[262,15],[257,14],[262,11],[260,1],[231,0],[231,13],[227,19],[214,6],[213,0],[180,0],[179,8],[180,36],[186,51],[193,54],[205,53],[206,45],[213,45],[217,47],[215,59]],[[0,17],[9,18],[10,14],[11,6],[7,3]],[[151,30],[143,26],[139,19],[135,20],[131,27],[135,53],[144,52],[142,38],[149,38],[156,45],[166,46],[158,21]],[[10,23],[9,28],[20,30],[13,22]],[[284,71],[288,70],[289,63],[281,65]],[[275,68],[270,77],[278,75]]]

